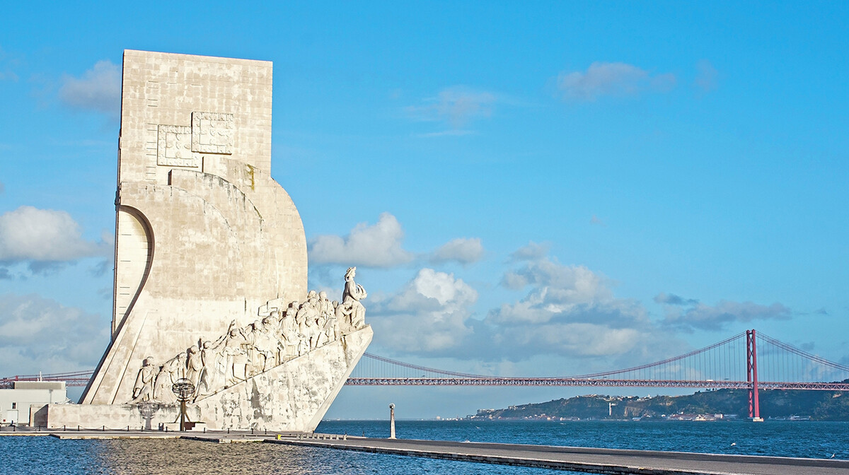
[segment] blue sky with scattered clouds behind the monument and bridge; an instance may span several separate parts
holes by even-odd
[[[93,368],[105,348],[126,48],[273,61],[273,176],[311,287],[357,265],[373,353],[568,375],[754,327],[849,360],[845,3],[3,16],[0,374]],[[345,388],[329,416],[586,392]]]

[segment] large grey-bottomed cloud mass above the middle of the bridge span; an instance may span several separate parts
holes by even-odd
[[[521,250],[530,254],[535,248]],[[513,358],[554,354],[646,361],[679,346],[674,338],[659,342],[644,306],[616,298],[610,280],[586,266],[528,260],[505,272],[502,284],[528,288],[524,298],[491,310],[484,321],[496,346]]]

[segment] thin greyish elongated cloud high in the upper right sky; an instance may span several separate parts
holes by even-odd
[[[565,99],[592,102],[602,96],[665,92],[675,87],[676,81],[675,75],[651,75],[632,64],[595,62],[585,71],[561,73],[557,87]]]

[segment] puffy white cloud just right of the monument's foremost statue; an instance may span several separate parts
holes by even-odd
[[[455,349],[471,332],[466,321],[478,293],[453,274],[422,269],[400,292],[368,308],[380,343],[406,353]]]

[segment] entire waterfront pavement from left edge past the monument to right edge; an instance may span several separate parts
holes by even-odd
[[[2,436],[42,435],[58,439],[187,439],[199,443],[290,444],[329,450],[357,450],[376,454],[430,457],[541,467],[591,473],[638,474],[751,474],[751,475],[849,475],[849,461],[714,455],[654,450],[615,450],[526,444],[491,444],[412,439],[369,439],[341,434],[241,432],[159,432],[159,431],[26,431],[0,433]]]

